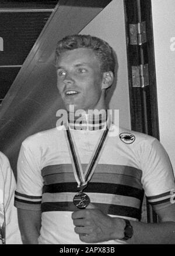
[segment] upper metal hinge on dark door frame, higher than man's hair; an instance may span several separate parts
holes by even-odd
[[[146,42],[146,22],[129,24],[130,45],[142,45]]]

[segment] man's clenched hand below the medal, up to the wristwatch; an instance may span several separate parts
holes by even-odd
[[[100,243],[124,237],[125,221],[110,217],[98,209],[74,211],[72,220],[75,233],[85,243]]]

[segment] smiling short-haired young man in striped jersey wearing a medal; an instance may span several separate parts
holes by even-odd
[[[102,111],[114,77],[111,47],[97,37],[65,37],[56,67],[69,115],[20,149],[16,206],[24,243],[175,243],[175,184],[166,152],[148,135],[123,128],[116,134]],[[159,224],[139,221],[143,190]]]

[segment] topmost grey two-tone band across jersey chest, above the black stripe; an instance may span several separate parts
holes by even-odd
[[[139,170],[137,171],[135,168],[131,169],[129,169],[128,166],[125,166],[124,168],[124,166],[97,165],[90,182],[103,183],[105,181],[106,183],[116,183],[142,190],[141,180],[138,179]],[[47,166],[41,173],[45,185],[75,182],[75,176],[71,165]]]

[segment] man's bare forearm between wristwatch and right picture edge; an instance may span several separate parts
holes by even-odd
[[[175,222],[141,223],[130,221],[134,235],[129,244],[175,244]]]

